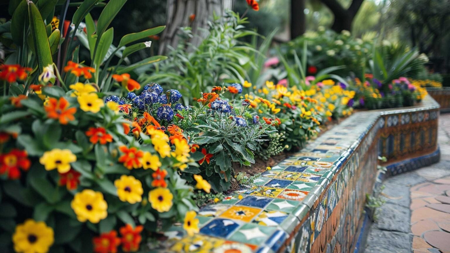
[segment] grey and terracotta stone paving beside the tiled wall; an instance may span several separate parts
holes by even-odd
[[[450,253],[450,114],[439,120],[440,162],[383,182],[366,253]]]

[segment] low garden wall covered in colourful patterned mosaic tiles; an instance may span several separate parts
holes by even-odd
[[[395,162],[392,175],[436,162],[438,108],[427,96],[415,107],[355,113],[262,173],[256,187],[201,208],[200,233],[172,226],[153,251],[353,252],[378,154]]]

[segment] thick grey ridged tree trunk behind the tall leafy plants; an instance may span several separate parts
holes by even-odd
[[[167,45],[176,47],[180,27],[192,27],[193,34],[206,36],[201,28],[207,28],[207,21],[213,14],[222,15],[226,9],[233,9],[234,0],[167,0],[166,29],[162,33],[159,54],[167,50]],[[192,20],[192,15],[195,15]],[[201,42],[195,36],[190,41],[194,46]]]

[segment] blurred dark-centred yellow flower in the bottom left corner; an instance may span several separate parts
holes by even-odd
[[[44,221],[27,219],[16,226],[13,243],[18,253],[45,253],[54,243],[54,232]]]

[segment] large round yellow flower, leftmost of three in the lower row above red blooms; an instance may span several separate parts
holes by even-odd
[[[99,191],[85,189],[76,193],[70,206],[80,222],[89,220],[92,223],[99,223],[100,220],[108,216],[108,212],[106,212],[108,204]]]

